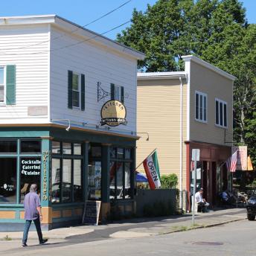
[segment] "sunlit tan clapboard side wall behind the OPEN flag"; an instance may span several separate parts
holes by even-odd
[[[176,173],[179,177],[180,83],[179,80],[138,80],[137,131],[148,132],[137,142],[136,162],[143,161],[157,148],[161,175]],[[183,87],[183,141],[186,138],[186,95]],[[138,134],[140,135],[140,134]],[[183,144],[183,179],[185,188],[185,144]],[[144,173],[144,167],[138,168]],[[179,188],[179,185],[178,185]]]

